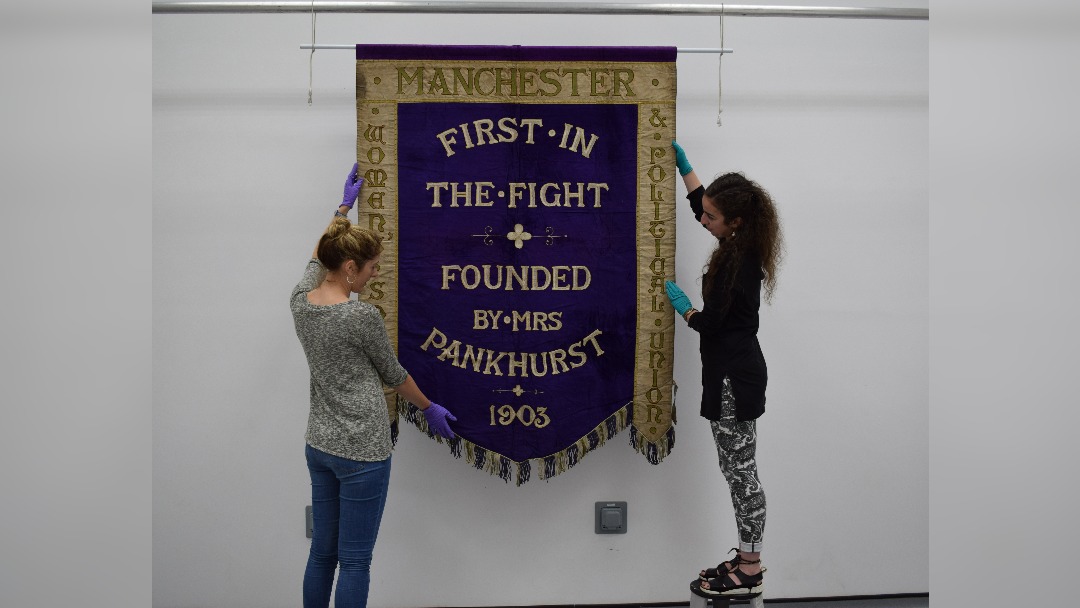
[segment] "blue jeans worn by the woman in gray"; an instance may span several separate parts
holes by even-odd
[[[390,486],[390,458],[360,462],[305,446],[311,473],[311,552],[303,572],[303,608],[327,608],[334,570],[336,608],[365,608],[372,552]]]

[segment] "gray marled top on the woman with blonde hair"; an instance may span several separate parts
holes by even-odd
[[[390,346],[382,315],[372,305],[308,301],[326,269],[308,262],[289,308],[311,373],[311,409],[305,435],[311,447],[350,460],[390,456],[390,418],[382,386],[397,387],[408,373]]]

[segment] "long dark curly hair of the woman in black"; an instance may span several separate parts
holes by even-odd
[[[710,257],[702,284],[703,297],[713,295],[716,278],[723,276],[724,284],[718,294],[720,301],[715,303],[726,308],[730,302],[735,273],[748,253],[761,260],[765,301],[771,303],[777,291],[777,272],[784,254],[780,215],[772,197],[756,181],[733,172],[714,179],[705,188],[705,198],[724,214],[725,220],[730,222],[740,218],[741,222],[733,237],[719,240]]]

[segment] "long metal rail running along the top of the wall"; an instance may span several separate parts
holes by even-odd
[[[855,19],[930,19],[930,9],[856,6],[775,6],[754,4],[625,4],[610,2],[440,2],[400,0],[285,0],[281,2],[153,2],[156,14],[178,13],[474,13],[584,15],[714,15],[726,17],[833,17]]]

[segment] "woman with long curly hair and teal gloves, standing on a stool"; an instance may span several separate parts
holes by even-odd
[[[760,593],[765,491],[755,452],[757,418],[765,413],[768,371],[757,340],[761,294],[772,301],[783,253],[780,217],[769,193],[741,173],[726,173],[704,187],[675,141],[675,163],[694,217],[717,240],[704,269],[701,310],[675,283],[667,297],[700,334],[701,416],[710,420],[720,470],[734,508],[739,546],[732,559],[699,573],[705,595]],[[730,551],[729,551],[730,553]]]

